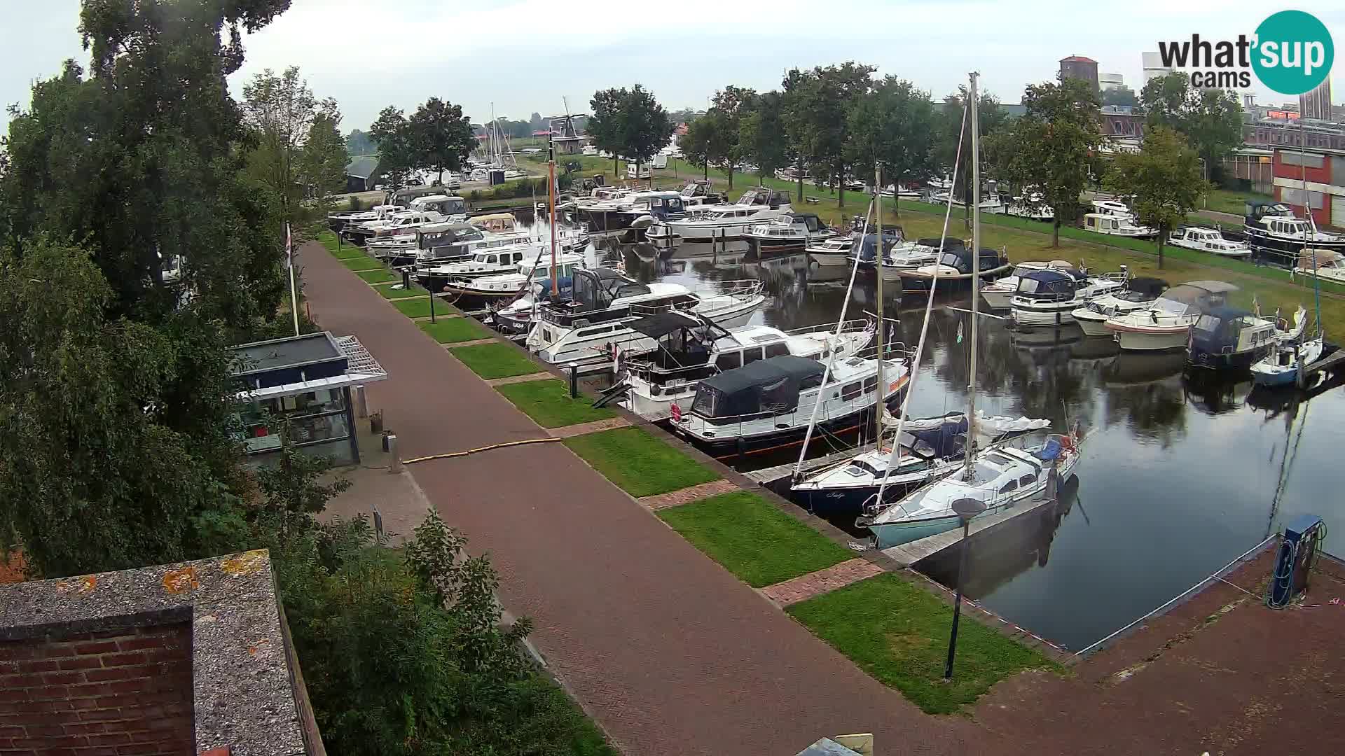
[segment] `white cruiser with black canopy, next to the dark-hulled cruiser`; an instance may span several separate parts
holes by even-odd
[[[725,330],[686,312],[662,312],[629,324],[658,342],[651,352],[617,352],[616,383],[627,386],[625,406],[647,420],[671,416],[672,405],[690,406],[697,385],[710,375],[780,355],[826,359],[858,354],[873,339],[873,320],[854,320],[839,332],[808,326],[781,331],[769,326]]]

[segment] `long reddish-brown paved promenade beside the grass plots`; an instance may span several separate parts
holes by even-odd
[[[315,317],[387,369],[369,387],[404,457],[545,433],[321,246],[303,250]],[[968,721],[898,693],[740,582],[562,444],[414,465],[412,474],[533,642],[627,753],[790,755],[874,732],[882,753],[972,753]]]

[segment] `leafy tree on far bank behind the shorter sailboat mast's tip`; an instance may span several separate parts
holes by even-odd
[[[933,102],[897,77],[885,77],[849,116],[850,163],[882,164],[884,182],[925,179],[933,171]]]

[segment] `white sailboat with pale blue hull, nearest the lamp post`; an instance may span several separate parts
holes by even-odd
[[[1029,449],[991,447],[976,453],[966,472],[946,475],[861,517],[855,525],[868,527],[880,549],[937,535],[960,525],[962,518],[952,508],[955,502],[981,502],[985,510],[976,517],[987,517],[1045,492],[1052,479],[1063,483],[1079,463],[1077,445],[1071,433],[1049,436]]]

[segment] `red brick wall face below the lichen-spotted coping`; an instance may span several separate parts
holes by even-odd
[[[0,756],[190,756],[190,623],[0,642]]]

